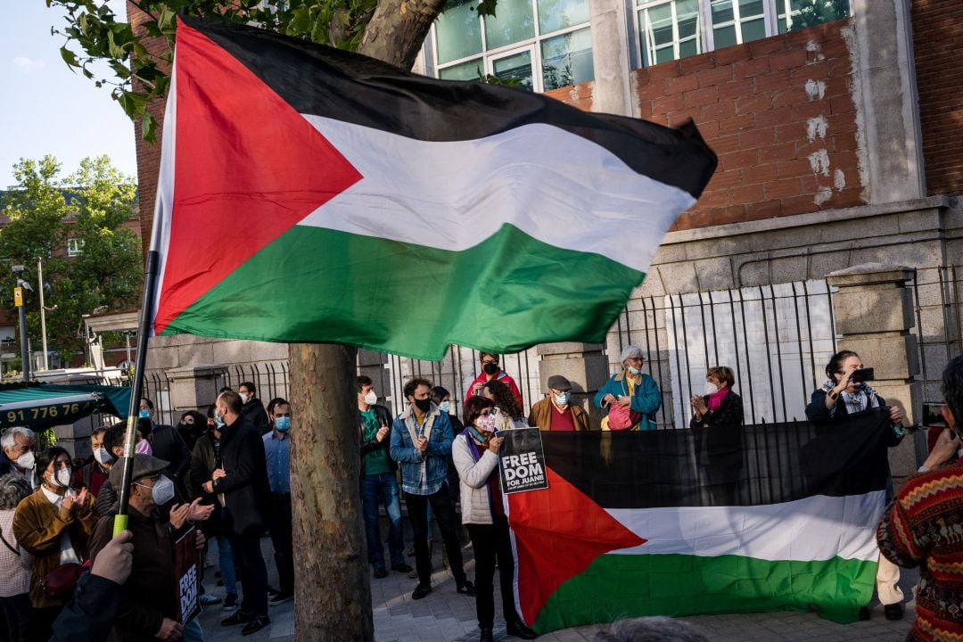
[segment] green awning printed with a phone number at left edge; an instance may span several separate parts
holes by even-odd
[[[42,430],[73,424],[94,412],[124,419],[129,407],[126,386],[4,384],[0,386],[0,430],[12,425]]]

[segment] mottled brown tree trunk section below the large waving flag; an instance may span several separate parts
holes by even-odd
[[[291,346],[295,640],[374,640],[353,347]]]

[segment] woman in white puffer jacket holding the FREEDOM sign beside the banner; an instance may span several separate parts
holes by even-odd
[[[525,640],[536,637],[514,609],[512,576],[515,563],[508,536],[508,518],[502,503],[495,436],[498,411],[491,399],[473,397],[465,405],[465,429],[455,436],[452,458],[461,490],[461,523],[468,528],[475,551],[475,599],[481,642],[490,642],[495,624],[495,559],[502,589],[508,635]]]

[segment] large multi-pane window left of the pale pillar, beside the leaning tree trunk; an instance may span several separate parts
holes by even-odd
[[[448,0],[432,29],[434,75],[494,76],[545,91],[594,77],[588,0],[499,0],[480,16],[477,0]]]

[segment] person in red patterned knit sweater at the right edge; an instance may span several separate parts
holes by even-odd
[[[902,567],[920,567],[916,621],[907,640],[963,639],[963,447],[956,418],[963,419],[963,357],[943,371],[943,417],[950,427],[899,489],[876,530],[879,550]],[[949,466],[948,462],[953,461]]]

